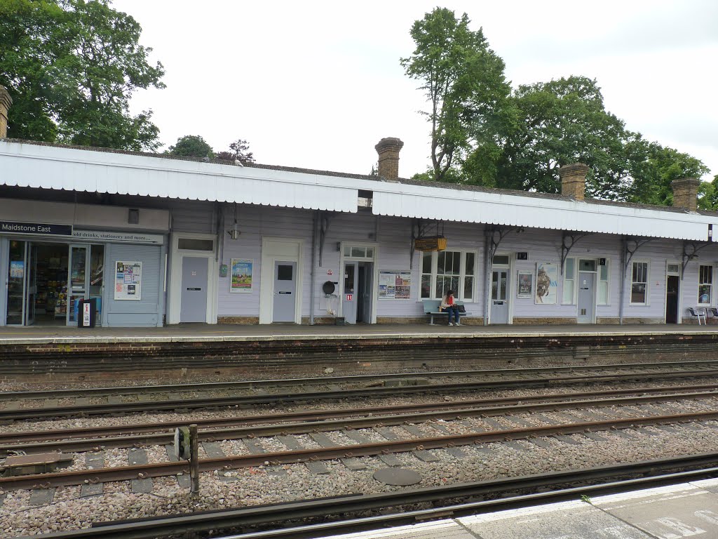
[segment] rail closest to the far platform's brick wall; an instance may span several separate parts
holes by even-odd
[[[283,387],[294,385],[321,385],[339,383],[373,382],[383,379],[412,379],[412,378],[440,378],[440,377],[487,377],[505,376],[506,374],[552,374],[555,372],[582,372],[596,370],[631,370],[631,369],[666,369],[671,367],[698,367],[699,365],[714,366],[718,360],[698,361],[666,361],[655,363],[626,363],[626,364],[592,364],[574,365],[570,367],[521,367],[515,369],[481,369],[470,371],[429,371],[406,372],[390,374],[354,374],[344,377],[317,377],[317,378],[287,378],[270,380],[246,380],[238,382],[199,382],[189,384],[157,384],[118,387],[86,387],[82,389],[41,390],[41,391],[14,391],[0,393],[0,401],[21,399],[48,399],[64,397],[101,397],[104,395],[135,395],[167,392],[206,392],[217,390],[252,390],[258,387]]]

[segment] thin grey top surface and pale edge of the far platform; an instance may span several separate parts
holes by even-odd
[[[606,326],[446,326],[429,324],[357,324],[354,326],[220,326],[217,324],[177,324],[164,328],[77,328],[67,326],[0,327],[2,344],[101,343],[101,342],[182,342],[182,341],[265,341],[361,338],[498,338],[544,336],[626,336],[626,335],[714,335],[718,325],[631,324]]]

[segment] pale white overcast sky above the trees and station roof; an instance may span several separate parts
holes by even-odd
[[[608,111],[718,174],[718,2],[115,0],[167,74],[139,91],[167,146],[246,139],[257,162],[368,174],[382,137],[404,141],[399,175],[429,165],[426,101],[399,58],[435,6],[466,12],[512,86],[596,78]]]

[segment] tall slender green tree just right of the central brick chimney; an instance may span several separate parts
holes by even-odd
[[[450,181],[477,140],[493,139],[506,124],[510,85],[504,63],[488,47],[482,29],[472,31],[467,14],[460,19],[436,8],[414,22],[416,50],[401,65],[421,81],[430,110],[432,179]]]

